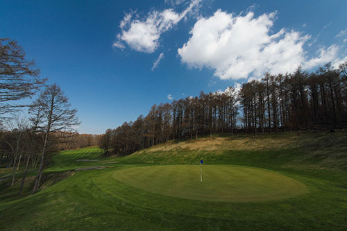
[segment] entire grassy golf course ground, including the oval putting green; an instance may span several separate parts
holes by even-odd
[[[22,196],[20,180],[0,182],[0,230],[347,230],[346,132],[215,136],[127,157],[100,154],[82,148],[53,156],[34,196],[33,177]],[[203,186],[194,165],[201,158]],[[106,168],[73,171],[88,166]],[[213,201],[218,196],[229,200]]]

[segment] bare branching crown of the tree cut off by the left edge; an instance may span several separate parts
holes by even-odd
[[[22,47],[14,40],[0,38],[0,115],[22,107],[14,101],[33,96],[46,79],[39,77],[40,70],[34,60],[28,61]]]

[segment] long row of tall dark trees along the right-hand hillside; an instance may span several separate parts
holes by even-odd
[[[128,155],[169,139],[214,133],[286,132],[347,126],[347,62],[308,73],[264,74],[239,89],[201,92],[153,105],[146,117],[108,129],[101,137],[105,155]]]

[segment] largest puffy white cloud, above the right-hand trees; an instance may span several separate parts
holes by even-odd
[[[234,16],[217,10],[212,17],[198,19],[178,54],[189,67],[214,69],[221,79],[291,72],[299,65],[313,67],[336,58],[338,47],[333,45],[307,60],[303,45],[310,36],[284,28],[271,33],[275,17],[276,12],[254,17],[253,12]]]

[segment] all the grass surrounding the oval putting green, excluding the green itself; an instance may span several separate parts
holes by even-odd
[[[346,230],[347,133],[206,137],[171,141],[127,157],[99,158],[97,148],[53,157],[48,173],[79,171],[28,196],[0,182],[0,230],[249,229]],[[310,193],[262,203],[186,200],[128,187],[113,180],[117,169],[156,164],[239,164],[278,171],[303,182]],[[99,159],[98,162],[76,162]],[[117,164],[105,164],[114,162]],[[18,219],[21,218],[21,219]]]

